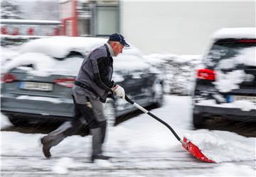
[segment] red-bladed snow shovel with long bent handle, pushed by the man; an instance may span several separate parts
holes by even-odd
[[[150,115],[152,118],[154,118],[155,120],[161,122],[162,124],[164,124],[166,127],[169,128],[169,130],[171,130],[171,132],[174,134],[174,136],[176,137],[176,139],[178,139],[179,142],[181,142],[182,146],[189,152],[191,153],[193,156],[195,156],[197,159],[201,160],[201,161],[205,161],[205,162],[211,162],[211,163],[215,163],[215,161],[208,159],[208,157],[206,157],[201,150],[196,146],[196,144],[193,144],[192,142],[188,141],[188,139],[186,137],[183,137],[183,141],[181,140],[180,137],[178,137],[178,135],[176,134],[176,132],[172,129],[172,127],[170,125],[168,125],[166,122],[164,122],[164,120],[161,120],[160,118],[156,117],[156,115],[150,113],[148,110],[144,109],[142,106],[138,105],[137,103],[135,103],[134,101],[130,100],[127,96],[125,96],[125,100],[129,103],[131,103],[132,105],[134,105],[136,108],[138,108],[139,110],[142,110],[144,113],[146,113],[147,115]]]

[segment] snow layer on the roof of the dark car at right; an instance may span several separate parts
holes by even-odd
[[[256,38],[256,28],[221,28],[212,35],[213,39],[227,39],[227,38]]]

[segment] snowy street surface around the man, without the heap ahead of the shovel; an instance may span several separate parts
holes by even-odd
[[[184,130],[196,131],[189,121],[190,109],[190,97],[166,96],[166,105],[151,112],[161,118],[166,113],[169,113],[169,118],[176,118],[168,122],[173,122],[174,129],[181,134]],[[233,130],[235,132],[235,128]],[[244,133],[244,128],[242,130]],[[48,131],[50,129],[40,126],[31,129],[3,127],[1,176],[255,176],[255,160],[220,164],[198,161],[181,147],[169,130],[147,115],[139,114],[110,127],[105,146],[105,154],[114,156],[110,162],[90,163],[91,138],[80,135],[66,138],[53,147],[53,157],[45,159],[38,139]],[[255,136],[252,127],[250,132],[252,135],[246,132],[248,137]]]

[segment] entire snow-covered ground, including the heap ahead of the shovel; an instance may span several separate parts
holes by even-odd
[[[90,161],[91,137],[75,135],[51,150],[45,159],[38,145],[42,134],[1,132],[2,176],[256,176],[255,138],[233,132],[192,130],[191,98],[165,96],[164,106],[151,110],[218,164],[198,161],[161,123],[138,115],[110,127],[105,154],[111,162]],[[1,127],[10,123],[1,115]]]

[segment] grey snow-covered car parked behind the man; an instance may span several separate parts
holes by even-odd
[[[23,44],[18,55],[6,59],[2,67],[1,112],[17,126],[72,119],[71,90],[82,60],[105,42],[105,38],[58,36]],[[114,57],[113,80],[143,106],[163,101],[161,79],[135,47],[124,47],[123,53]],[[112,122],[136,109],[111,95],[105,107]]]

